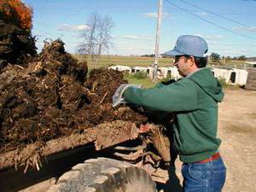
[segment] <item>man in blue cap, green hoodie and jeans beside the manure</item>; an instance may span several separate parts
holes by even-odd
[[[174,66],[183,79],[172,84],[158,84],[152,89],[125,86],[123,99],[176,114],[174,145],[183,161],[185,192],[221,191],[226,169],[218,153],[218,102],[222,102],[222,86],[207,68],[207,42],[198,36],[177,38]],[[172,181],[171,181],[172,182]]]

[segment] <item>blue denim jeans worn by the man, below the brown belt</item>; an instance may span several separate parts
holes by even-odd
[[[225,183],[226,167],[222,158],[207,163],[184,163],[184,192],[220,192]]]

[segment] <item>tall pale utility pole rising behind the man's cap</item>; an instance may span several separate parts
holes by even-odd
[[[158,16],[157,16],[157,26],[156,26],[156,35],[155,35],[155,46],[154,46],[154,70],[153,70],[153,80],[154,82],[157,79],[157,65],[159,57],[159,42],[160,42],[160,26],[161,26],[161,17],[162,17],[162,7],[163,0],[158,1]]]

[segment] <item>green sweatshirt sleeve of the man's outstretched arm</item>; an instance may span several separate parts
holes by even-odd
[[[125,101],[166,112],[192,111],[197,108],[197,91],[186,79],[176,83],[158,84],[151,89],[128,87]]]

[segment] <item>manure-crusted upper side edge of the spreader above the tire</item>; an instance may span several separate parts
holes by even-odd
[[[50,140],[45,145],[42,143],[29,144],[25,148],[1,154],[0,171],[9,167],[15,167],[17,169],[18,166],[24,166],[24,172],[26,172],[29,166],[35,166],[39,170],[41,161],[47,160],[49,155],[89,143],[94,143],[96,150],[108,148],[115,144],[137,138],[137,130],[137,126],[132,122],[116,120],[85,129],[80,134],[76,133],[68,137]]]

